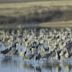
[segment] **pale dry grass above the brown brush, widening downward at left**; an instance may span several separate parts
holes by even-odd
[[[34,10],[34,7],[59,7],[62,6],[66,9],[68,6],[72,6],[72,1],[38,1],[38,2],[26,2],[26,3],[1,3],[0,15],[6,16],[20,16],[26,15],[27,12]]]

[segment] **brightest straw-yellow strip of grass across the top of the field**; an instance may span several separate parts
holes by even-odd
[[[66,6],[72,5],[72,1],[38,1],[38,2],[26,2],[26,3],[1,3],[0,8],[22,8],[31,6]]]

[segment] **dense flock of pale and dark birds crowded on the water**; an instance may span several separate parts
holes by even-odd
[[[0,54],[5,56],[19,55],[28,60],[42,58],[62,60],[72,55],[71,28],[6,31],[0,34],[0,39],[4,45]]]

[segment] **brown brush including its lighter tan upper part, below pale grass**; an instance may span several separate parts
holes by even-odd
[[[35,6],[30,9],[22,10],[22,13],[15,12],[14,15],[0,15],[0,24],[12,23],[41,23],[52,21],[72,20],[72,10],[62,7],[41,7]],[[16,15],[15,15],[16,14]],[[19,14],[19,15],[18,15]]]

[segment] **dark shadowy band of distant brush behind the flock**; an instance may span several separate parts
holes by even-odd
[[[51,21],[67,21],[72,20],[72,10],[61,10],[61,9],[48,9],[28,12],[26,15],[21,16],[1,16],[0,24],[11,24],[11,23],[41,23]]]

